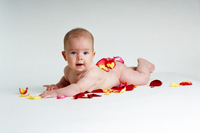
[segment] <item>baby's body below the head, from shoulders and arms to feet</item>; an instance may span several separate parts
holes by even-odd
[[[149,75],[154,71],[155,66],[147,60],[139,58],[138,66],[135,69],[126,67],[126,65],[116,61],[115,68],[110,69],[109,72],[92,64],[88,71],[76,75],[73,70],[66,66],[64,78],[57,85],[52,85],[56,88],[45,91],[41,96],[43,98],[54,98],[62,95],[74,96],[85,91],[91,92],[96,89],[112,88],[123,82],[145,85],[149,81]],[[68,86],[59,88],[58,86],[62,83]]]

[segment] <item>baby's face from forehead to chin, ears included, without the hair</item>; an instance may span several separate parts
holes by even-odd
[[[65,48],[65,60],[76,73],[87,71],[92,63],[95,52],[92,50],[92,40],[87,37],[70,38]]]

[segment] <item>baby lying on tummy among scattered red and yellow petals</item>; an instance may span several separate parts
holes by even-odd
[[[127,67],[115,61],[116,66],[106,72],[93,63],[95,56],[93,35],[81,28],[69,31],[64,38],[62,55],[68,65],[64,68],[64,76],[57,84],[47,87],[40,96],[55,98],[71,97],[81,92],[106,89],[120,83],[145,85],[155,66],[145,59],[139,58],[137,67]]]

